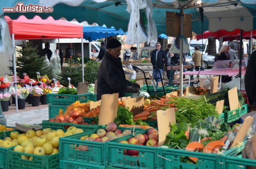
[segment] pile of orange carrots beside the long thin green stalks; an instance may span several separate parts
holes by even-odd
[[[160,98],[160,100],[150,100],[150,104],[144,107],[144,111],[134,116],[133,121],[137,120],[157,120],[156,110],[166,110],[170,107],[175,107],[172,102],[174,99]],[[174,108],[177,110],[177,108]]]

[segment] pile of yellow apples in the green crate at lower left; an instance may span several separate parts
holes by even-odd
[[[35,154],[39,156],[56,154],[59,152],[59,138],[84,132],[75,126],[71,126],[64,132],[62,129],[52,130],[28,130],[25,133],[12,131],[10,137],[0,139],[0,147],[9,148],[15,146],[15,152]],[[22,159],[33,160],[33,157],[21,155]]]

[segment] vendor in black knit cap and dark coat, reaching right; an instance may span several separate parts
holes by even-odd
[[[107,43],[107,51],[103,57],[98,72],[97,100],[102,94],[119,93],[119,97],[124,97],[124,93],[138,93],[140,86],[126,80],[121,62],[121,46],[117,39],[111,39]]]

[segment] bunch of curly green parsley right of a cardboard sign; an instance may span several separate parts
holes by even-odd
[[[114,119],[117,126],[120,124],[134,124],[133,113],[122,105],[118,105],[117,116]]]

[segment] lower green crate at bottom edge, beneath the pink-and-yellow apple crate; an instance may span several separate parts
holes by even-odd
[[[80,162],[74,162],[69,160],[60,160],[60,169],[105,169],[102,165],[93,165]]]

